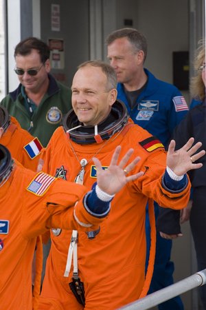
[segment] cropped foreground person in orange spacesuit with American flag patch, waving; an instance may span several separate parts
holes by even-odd
[[[98,180],[87,193],[83,185],[25,169],[0,145],[1,309],[38,309],[38,296],[34,296],[32,305],[32,259],[38,235],[52,227],[98,229],[109,214],[115,193],[143,174],[126,176],[124,167],[133,150],[129,149],[117,163],[120,149],[115,150],[107,170],[93,158]],[[130,171],[138,161],[135,158],[126,169]]]

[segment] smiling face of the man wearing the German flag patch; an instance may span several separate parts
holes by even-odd
[[[106,89],[106,75],[101,68],[87,65],[73,77],[71,103],[84,125],[98,125],[111,111],[117,91]]]

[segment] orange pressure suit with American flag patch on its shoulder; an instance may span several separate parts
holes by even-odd
[[[80,222],[91,223],[96,229],[103,218],[91,216],[84,208],[84,186],[42,176],[41,172],[37,176],[18,162],[14,165],[12,174],[0,187],[0,309],[32,310],[37,309],[32,307],[36,236],[51,227],[87,230],[73,217],[76,203]],[[36,183],[40,177],[46,179]]]

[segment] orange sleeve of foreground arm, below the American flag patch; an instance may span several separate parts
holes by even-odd
[[[91,216],[84,208],[83,198],[86,193],[87,188],[84,185],[61,179],[55,179],[43,196],[26,191],[23,219],[25,236],[32,238],[42,235],[51,228],[96,229],[95,225],[103,219]],[[85,226],[74,216],[75,205],[79,221],[85,223]]]

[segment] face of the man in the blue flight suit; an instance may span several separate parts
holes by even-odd
[[[130,83],[137,79],[139,68],[143,67],[142,51],[134,52],[133,45],[126,37],[113,41],[107,50],[107,58],[117,73],[119,83]]]

